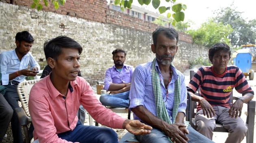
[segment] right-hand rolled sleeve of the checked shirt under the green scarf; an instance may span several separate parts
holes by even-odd
[[[178,108],[178,112],[183,112],[186,116],[186,108],[187,108],[187,88],[185,85],[184,76],[180,76],[180,104]]]

